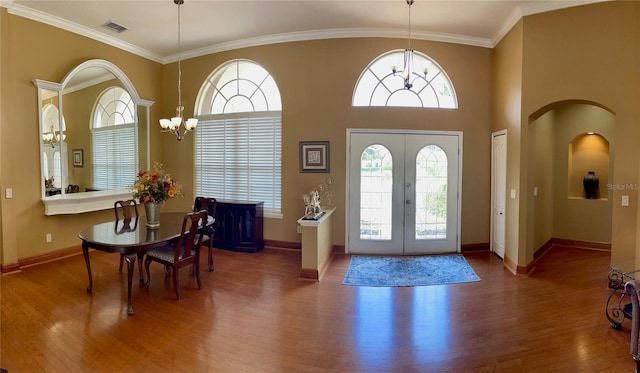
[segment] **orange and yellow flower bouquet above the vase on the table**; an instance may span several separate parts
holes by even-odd
[[[138,172],[136,182],[131,186],[133,198],[140,203],[162,205],[169,198],[183,196],[182,187],[165,172],[161,163],[154,163],[153,168],[153,172]]]

